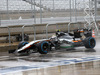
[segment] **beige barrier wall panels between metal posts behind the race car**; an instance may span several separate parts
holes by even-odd
[[[48,36],[51,37],[53,34],[55,34],[57,29],[60,29],[61,31],[64,31],[64,32],[68,32],[68,24],[69,23],[57,23],[57,25],[52,24],[52,25],[48,26]],[[36,24],[35,25],[36,39],[46,38],[46,25],[47,24]],[[22,34],[22,27],[23,27],[23,25],[9,26],[12,42],[17,42],[15,37],[18,34]],[[84,23],[70,24],[70,30],[74,30],[77,28],[83,28],[83,27],[84,27]],[[29,35],[29,41],[32,41],[34,39],[34,28],[32,26],[26,26],[24,28],[24,33]],[[0,42],[1,43],[9,42],[8,36],[9,36],[8,28],[0,27]]]

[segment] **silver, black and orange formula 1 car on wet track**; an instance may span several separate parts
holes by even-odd
[[[18,49],[9,50],[9,53],[16,55],[31,54],[33,52],[39,52],[40,54],[47,54],[52,48],[74,48],[79,46],[85,46],[85,48],[94,48],[96,40],[92,37],[92,30],[90,29],[76,29],[72,33],[65,33],[58,30],[55,36],[49,39],[42,39],[28,42],[21,42],[18,45]]]

